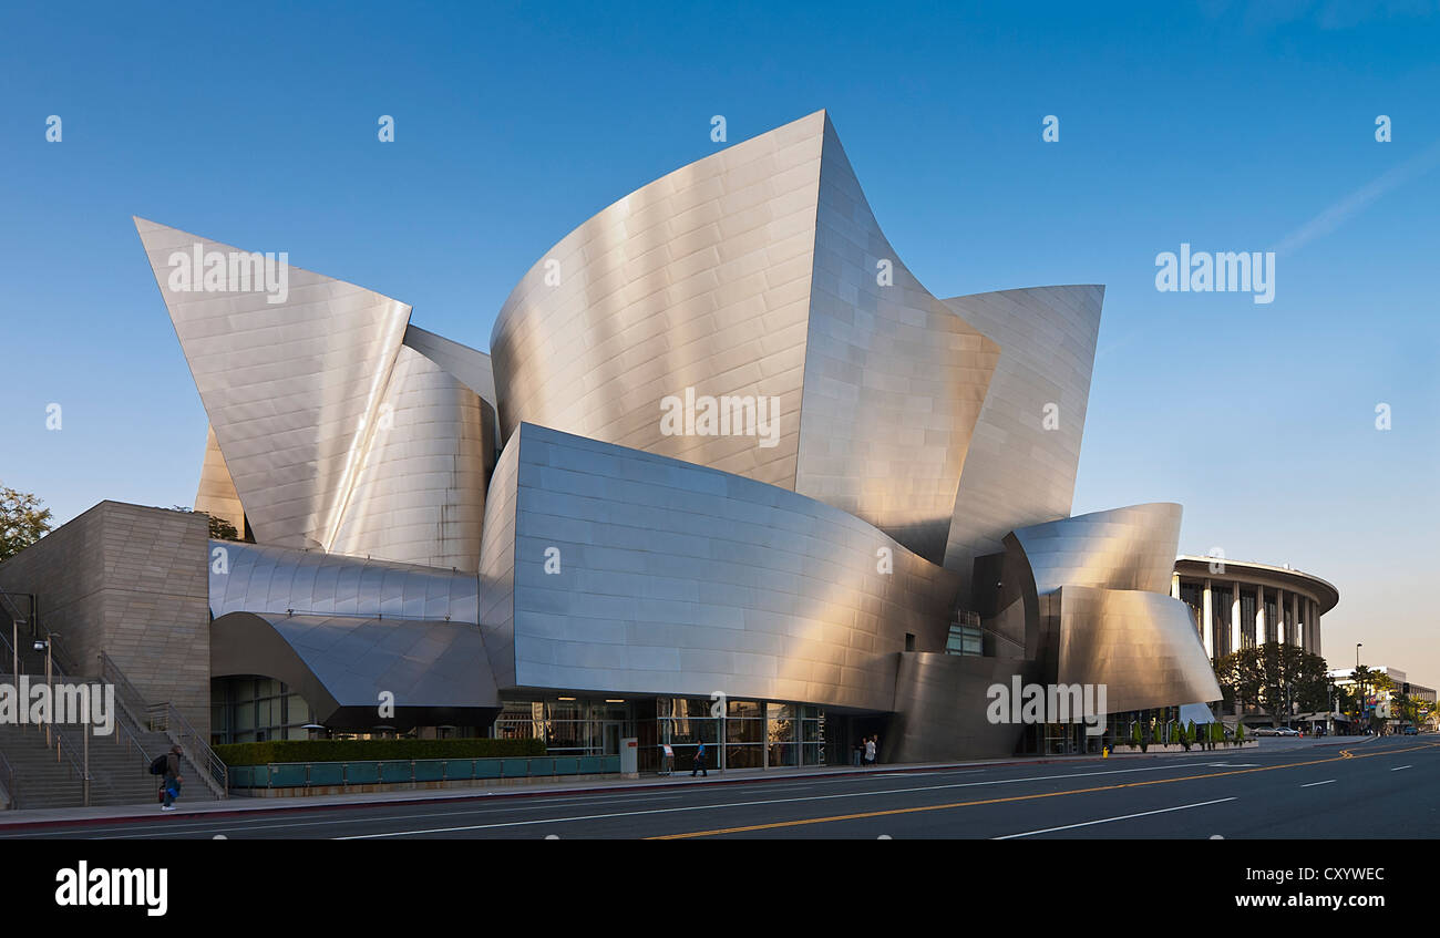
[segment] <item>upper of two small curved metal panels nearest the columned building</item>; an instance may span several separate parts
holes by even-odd
[[[1181,506],[1149,502],[1061,518],[1007,537],[1024,550],[1040,596],[1063,586],[1169,594]]]

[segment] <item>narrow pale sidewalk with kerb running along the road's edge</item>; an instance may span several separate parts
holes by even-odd
[[[1375,738],[1375,737],[1371,737]],[[1286,748],[1309,748],[1310,745],[1341,745],[1341,744],[1358,744],[1367,741],[1365,737],[1316,737],[1309,739],[1286,739]],[[1266,742],[1279,742],[1279,739],[1266,739]],[[1261,748],[1270,748],[1261,744]],[[1244,750],[1254,752],[1256,750]],[[1228,750],[1228,754],[1234,754],[1234,750]],[[1200,750],[1195,748],[1189,752],[1123,752],[1110,754],[1110,760],[1138,760],[1138,758],[1171,758],[1171,757],[1223,757],[1227,754],[1225,748],[1217,750]],[[137,820],[153,820],[156,817],[186,817],[204,814],[207,817],[217,816],[238,816],[251,814],[256,811],[276,813],[276,811],[297,811],[297,810],[315,810],[315,809],[363,809],[374,807],[382,804],[415,804],[415,803],[436,803],[436,801],[471,801],[471,800],[492,800],[492,798],[533,798],[541,796],[554,794],[586,794],[586,793],[618,793],[618,791],[647,791],[660,788],[672,788],[677,786],[724,786],[737,783],[755,783],[755,781],[792,781],[796,778],[831,778],[831,777],[847,777],[847,775],[886,775],[893,773],[927,773],[927,771],[946,771],[956,768],[994,768],[1001,765],[1040,765],[1040,764],[1081,764],[1081,762],[1100,762],[1104,761],[1099,755],[1030,755],[1030,757],[1011,757],[1011,758],[994,758],[994,760],[973,760],[965,762],[907,762],[894,765],[877,765],[876,768],[855,768],[852,765],[806,765],[804,768],[732,768],[726,771],[710,770],[710,777],[691,777],[684,771],[678,771],[674,775],[644,775],[641,778],[613,778],[606,781],[536,781],[527,786],[495,786],[488,788],[428,788],[418,791],[372,791],[372,793],[356,793],[356,794],[327,794],[315,797],[294,797],[294,798],[248,798],[248,797],[229,797],[223,801],[196,801],[193,804],[186,804],[184,798],[176,803],[177,810],[171,813],[161,814],[160,807],[154,803],[145,804],[121,804],[121,806],[104,806],[104,807],[66,807],[66,809],[42,809],[42,810],[20,810],[20,811],[3,811],[0,813],[0,832],[6,830],[22,830],[27,827],[55,827],[68,824],[94,824],[95,821],[137,821]]]

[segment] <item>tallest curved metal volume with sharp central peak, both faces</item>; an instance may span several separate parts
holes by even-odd
[[[491,350],[503,437],[776,485],[935,563],[999,358],[899,260],[824,111],[599,211],[520,281]]]

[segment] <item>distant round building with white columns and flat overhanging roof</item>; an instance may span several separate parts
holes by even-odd
[[[1320,617],[1341,600],[1331,583],[1290,567],[1191,555],[1175,560],[1171,596],[1194,610],[1211,662],[1266,642],[1323,655]]]

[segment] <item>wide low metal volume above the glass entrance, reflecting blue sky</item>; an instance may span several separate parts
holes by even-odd
[[[804,495],[528,423],[495,470],[481,555],[503,691],[887,711],[896,655],[907,637],[943,647],[958,586]]]

